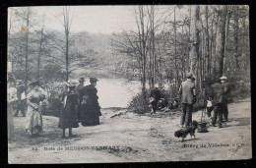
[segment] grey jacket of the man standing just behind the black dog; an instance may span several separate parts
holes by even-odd
[[[195,97],[193,89],[196,89],[195,84],[193,84],[189,79],[180,85],[178,93],[181,95],[182,103],[193,104]]]

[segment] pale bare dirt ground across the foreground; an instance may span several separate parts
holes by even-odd
[[[245,99],[228,105],[226,127],[209,128],[184,142],[173,134],[179,118],[171,112],[150,117],[132,113],[110,118],[112,109],[104,109],[100,125],[73,129],[73,139],[61,138],[58,118],[43,116],[44,133],[30,138],[25,118],[14,118],[14,140],[10,140],[9,163],[92,163],[229,160],[251,158],[251,101]],[[125,112],[124,109],[118,112]],[[178,114],[179,115],[179,114]],[[193,114],[199,121],[201,111]]]

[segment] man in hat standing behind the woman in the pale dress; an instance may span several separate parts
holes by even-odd
[[[15,117],[18,116],[19,112],[22,112],[23,117],[26,117],[26,95],[25,95],[25,86],[23,84],[22,80],[18,80],[16,84],[16,89],[17,89],[17,98],[18,98],[18,106],[17,110],[15,112]]]

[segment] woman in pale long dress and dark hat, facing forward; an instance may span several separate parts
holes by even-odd
[[[41,102],[45,99],[45,94],[40,91],[38,81],[33,81],[32,90],[28,94],[28,124],[26,131],[32,137],[39,136],[42,133],[42,115],[41,115]]]

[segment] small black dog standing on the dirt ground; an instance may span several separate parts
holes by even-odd
[[[198,123],[196,121],[193,121],[192,126],[187,126],[184,129],[180,129],[180,130],[176,131],[174,133],[174,136],[176,138],[182,138],[181,141],[183,141],[187,137],[187,135],[190,134],[190,137],[192,138],[192,136],[194,136],[194,139],[195,139],[196,138],[195,131],[197,129],[197,126],[198,126]]]

